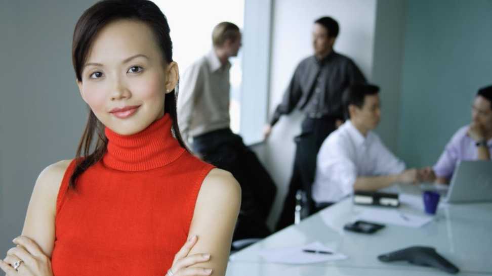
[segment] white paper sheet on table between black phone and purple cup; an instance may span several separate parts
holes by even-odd
[[[398,210],[380,209],[366,210],[356,217],[356,220],[388,223],[407,227],[422,227],[432,219],[433,217],[426,215],[413,215]]]

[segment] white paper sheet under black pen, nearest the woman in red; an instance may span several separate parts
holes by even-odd
[[[333,254],[306,253],[304,249],[322,250],[333,252]],[[284,263],[284,264],[308,264],[324,261],[343,260],[347,256],[334,252],[320,242],[313,242],[303,246],[264,249],[260,251],[260,255],[269,262]]]

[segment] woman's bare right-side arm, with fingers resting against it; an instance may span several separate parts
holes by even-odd
[[[241,188],[232,174],[211,170],[198,193],[189,237],[199,237],[190,254],[211,254],[210,261],[199,266],[212,268],[212,275],[225,275],[240,205]]]

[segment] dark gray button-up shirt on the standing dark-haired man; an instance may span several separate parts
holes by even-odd
[[[295,108],[311,118],[343,118],[343,91],[353,83],[365,81],[357,65],[346,56],[335,52],[323,60],[310,56],[297,66],[270,124]]]

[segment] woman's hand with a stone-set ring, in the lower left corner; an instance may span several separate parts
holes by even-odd
[[[0,268],[7,276],[53,276],[50,257],[31,239],[20,236],[14,239],[16,247],[7,251],[7,257],[0,260]]]

